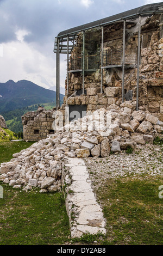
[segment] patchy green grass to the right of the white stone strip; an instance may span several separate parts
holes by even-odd
[[[107,224],[104,245],[162,245],[163,178],[118,179],[98,190]],[[109,199],[109,200],[108,200]]]

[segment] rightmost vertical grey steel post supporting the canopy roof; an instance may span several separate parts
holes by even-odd
[[[137,48],[137,85],[136,85],[136,111],[139,110],[139,72],[140,72],[140,43],[141,43],[141,16],[139,16],[139,33]]]

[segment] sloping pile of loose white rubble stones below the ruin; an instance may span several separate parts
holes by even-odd
[[[157,117],[135,111],[135,102],[126,101],[101,108],[62,127],[52,136],[34,143],[2,163],[0,180],[24,191],[40,187],[40,192],[61,190],[62,163],[66,157],[108,157],[136,144],[153,143],[163,130]]]

